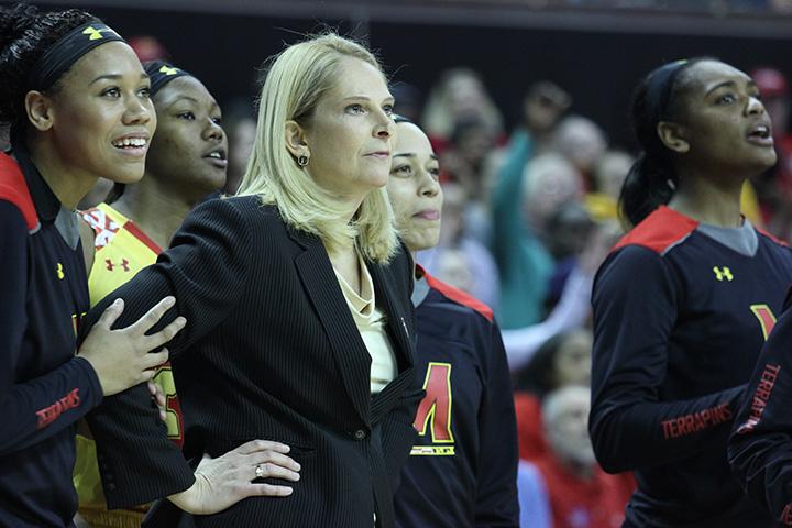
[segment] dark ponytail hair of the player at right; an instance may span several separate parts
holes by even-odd
[[[701,61],[715,59],[697,57],[661,66],[644,78],[632,96],[632,131],[642,152],[627,173],[619,196],[623,220],[631,226],[668,204],[676,190],[679,177],[672,152],[660,141],[657,125],[678,117],[684,72]]]

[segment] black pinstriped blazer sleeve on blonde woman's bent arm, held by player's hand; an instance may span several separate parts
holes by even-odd
[[[87,329],[116,298],[124,301],[117,326],[125,327],[144,317],[164,296],[174,296],[174,309],[154,331],[177,315],[186,317],[185,330],[166,344],[172,355],[184,352],[212,331],[242,295],[251,258],[248,235],[248,220],[230,200],[211,200],[199,206],[156,264],[141,271],[91,309]],[[180,451],[167,439],[145,384],[106,398],[88,419],[97,440],[99,469],[110,507],[173,495],[195,482]],[[134,464],[129,463],[131,453]]]

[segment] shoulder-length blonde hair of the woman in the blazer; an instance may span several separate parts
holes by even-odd
[[[344,209],[338,198],[309,177],[286,147],[286,122],[305,125],[334,87],[344,57],[360,58],[382,72],[365,47],[332,33],[277,55],[262,87],[256,139],[237,195],[260,195],[264,204],[274,204],[288,226],[319,237],[329,253],[352,241],[364,257],[384,263],[398,246],[385,188],[369,193],[350,223],[340,222]]]

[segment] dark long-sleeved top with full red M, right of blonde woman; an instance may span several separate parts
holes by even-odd
[[[517,426],[501,331],[486,305],[425,278],[416,372],[427,395],[394,499],[396,524],[516,528]]]

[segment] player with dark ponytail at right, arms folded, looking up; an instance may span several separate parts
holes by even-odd
[[[635,228],[594,284],[590,431],[608,472],[634,470],[628,527],[762,527],[732,476],[737,405],[792,279],[792,253],[740,215],[776,163],[754,80],[712,58],[639,85],[644,153],[622,190]]]

